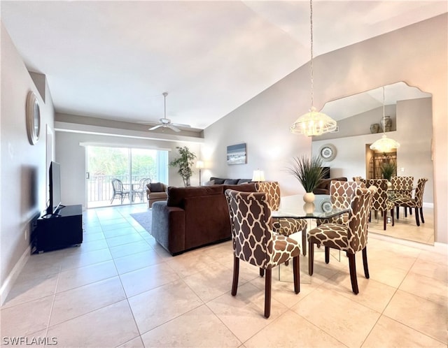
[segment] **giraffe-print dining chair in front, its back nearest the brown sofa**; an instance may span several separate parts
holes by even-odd
[[[294,291],[300,292],[300,245],[272,231],[267,195],[263,192],[225,191],[233,245],[232,296],[237,295],[239,261],[251,263],[265,273],[265,317],[271,312],[272,268],[293,259]],[[263,270],[263,272],[261,272]]]

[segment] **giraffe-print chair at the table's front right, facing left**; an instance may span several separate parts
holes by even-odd
[[[346,224],[321,224],[308,232],[309,275],[313,275],[314,272],[314,244],[325,247],[325,263],[330,262],[330,248],[345,251],[349,258],[351,289],[353,293],[358,294],[356,252],[363,252],[364,275],[367,279],[370,277],[367,265],[367,224],[373,196],[374,192],[369,189],[356,189]]]

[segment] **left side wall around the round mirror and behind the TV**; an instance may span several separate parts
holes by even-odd
[[[33,91],[41,110],[41,136],[36,145],[27,137],[25,106]],[[0,303],[20,272],[29,252],[30,221],[45,208],[45,126],[54,113],[48,87],[45,103],[22,58],[1,24],[1,182],[0,182]]]

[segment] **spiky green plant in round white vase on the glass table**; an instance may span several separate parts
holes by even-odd
[[[323,179],[322,159],[317,156],[297,156],[294,158],[293,166],[289,168],[289,173],[300,181],[307,192],[303,200],[306,203],[314,202],[313,190]]]

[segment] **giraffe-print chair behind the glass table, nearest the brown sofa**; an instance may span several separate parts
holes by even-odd
[[[255,187],[258,192],[264,192],[267,195],[267,202],[271,210],[279,210],[281,203],[280,184],[279,182],[257,182]],[[304,255],[306,252],[307,242],[307,220],[306,219],[292,219],[292,218],[279,218],[274,219],[272,222],[272,229],[275,233],[281,235],[291,235],[298,231],[302,231],[302,252]],[[304,247],[303,247],[304,246]]]

